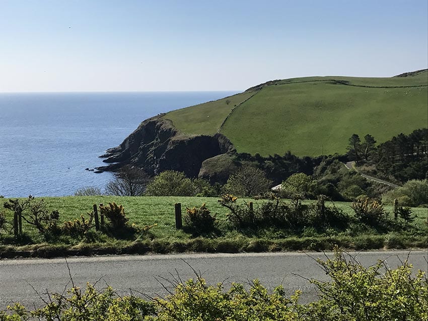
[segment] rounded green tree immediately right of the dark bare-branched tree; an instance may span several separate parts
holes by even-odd
[[[147,186],[146,195],[149,196],[194,196],[196,188],[191,179],[184,173],[165,171],[155,176]]]

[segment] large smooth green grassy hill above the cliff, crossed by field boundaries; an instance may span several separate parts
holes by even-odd
[[[304,77],[167,113],[186,134],[220,130],[239,152],[344,153],[353,134],[378,142],[428,122],[428,71],[390,78]]]

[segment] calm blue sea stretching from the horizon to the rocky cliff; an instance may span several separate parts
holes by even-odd
[[[111,173],[85,168],[139,123],[236,92],[0,94],[0,195],[73,195],[104,188]]]

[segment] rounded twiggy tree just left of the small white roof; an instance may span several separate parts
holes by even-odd
[[[254,196],[267,192],[271,184],[262,170],[243,166],[229,177],[225,190],[238,196]]]

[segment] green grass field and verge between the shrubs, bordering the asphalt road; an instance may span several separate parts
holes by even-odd
[[[116,202],[122,204],[130,224],[137,227],[155,225],[149,231],[133,235],[116,235],[116,238],[97,232],[93,239],[61,238],[47,243],[36,229],[24,223],[24,237],[16,242],[3,233],[0,242],[1,257],[61,256],[93,253],[170,253],[170,252],[263,252],[287,250],[329,250],[338,245],[352,249],[425,248],[427,245],[426,208],[413,208],[416,215],[412,229],[403,232],[377,233],[375,231],[346,230],[317,233],[313,229],[293,234],[279,228],[259,230],[237,230],[227,222],[228,209],[218,203],[218,198],[201,197],[47,197],[49,210],[58,210],[59,221],[74,220],[92,210],[93,204]],[[7,199],[2,199],[2,204]],[[239,200],[242,201],[242,200]],[[248,201],[248,200],[247,200]],[[194,237],[191,233],[175,228],[174,204],[182,204],[183,216],[186,207],[199,207],[203,203],[216,214],[219,231],[217,234]],[[263,201],[254,201],[258,206]],[[310,203],[311,201],[307,201]],[[330,204],[332,205],[332,204]],[[352,215],[350,203],[335,203],[344,212]],[[392,208],[386,206],[392,211]],[[12,220],[12,212],[7,212]],[[16,254],[16,252],[19,252]],[[30,251],[23,254],[22,251]]]

